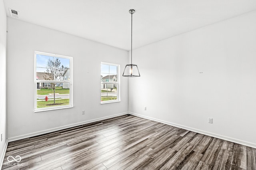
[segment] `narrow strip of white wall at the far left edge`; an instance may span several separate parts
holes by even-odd
[[[3,134],[2,142],[0,139],[0,164],[7,138],[6,117],[6,13],[4,1],[0,0],[0,134]]]

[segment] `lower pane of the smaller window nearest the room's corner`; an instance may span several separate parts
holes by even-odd
[[[102,83],[101,84],[101,101],[111,101],[117,99],[118,91],[117,83]]]

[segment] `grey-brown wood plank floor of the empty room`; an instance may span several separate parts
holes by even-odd
[[[256,149],[123,115],[10,142],[2,169],[256,170]]]

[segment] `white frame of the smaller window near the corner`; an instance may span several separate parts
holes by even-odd
[[[112,66],[117,66],[117,81],[115,82],[102,82],[100,81],[100,85],[102,84],[117,84],[117,95],[116,95],[116,99],[114,100],[109,100],[109,101],[101,101],[100,100],[100,104],[107,104],[107,103],[116,103],[116,102],[120,102],[120,64],[114,64],[114,63],[106,63],[106,62],[100,62],[100,66],[104,64],[104,65],[112,65]],[[100,69],[100,76],[101,76],[101,69]],[[101,77],[100,77],[101,78]],[[101,89],[101,88],[100,88]],[[101,98],[101,93],[100,93],[100,98]]]

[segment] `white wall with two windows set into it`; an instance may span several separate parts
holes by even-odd
[[[120,64],[123,70],[128,60],[127,51],[9,17],[7,28],[10,140],[128,112],[127,77],[120,77],[121,102],[100,104],[100,62]],[[74,108],[34,113],[34,51],[73,57]],[[82,115],[82,110],[86,115]]]

